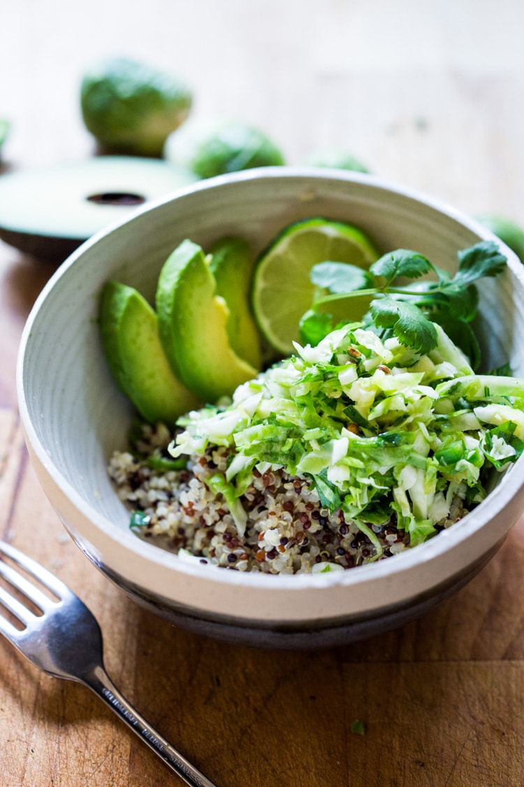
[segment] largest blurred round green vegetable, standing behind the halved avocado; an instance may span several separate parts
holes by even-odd
[[[114,57],[83,76],[82,118],[102,149],[161,157],[171,131],[189,114],[189,88],[149,65]]]

